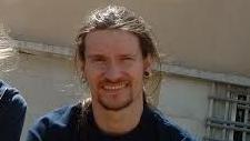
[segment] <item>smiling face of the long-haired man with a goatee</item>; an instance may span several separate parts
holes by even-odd
[[[98,30],[86,37],[83,74],[93,104],[118,111],[142,100],[146,61],[138,38],[122,30]]]

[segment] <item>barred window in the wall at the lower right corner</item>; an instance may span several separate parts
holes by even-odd
[[[213,83],[204,141],[250,141],[250,88]]]

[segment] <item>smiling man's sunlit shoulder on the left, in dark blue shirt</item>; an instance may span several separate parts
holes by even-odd
[[[56,109],[46,115],[39,118],[34,125],[29,130],[28,141],[50,141],[69,137],[71,133],[71,118],[74,114],[77,105],[66,105]],[[53,135],[51,135],[53,134]],[[57,137],[57,139],[54,138]],[[54,138],[54,139],[53,139]],[[67,139],[63,139],[67,140]]]

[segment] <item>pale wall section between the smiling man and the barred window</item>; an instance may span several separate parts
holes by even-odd
[[[211,82],[179,75],[164,77],[159,109],[198,139],[206,134],[208,94]]]

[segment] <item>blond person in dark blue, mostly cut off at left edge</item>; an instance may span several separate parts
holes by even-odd
[[[12,70],[9,63],[16,63],[14,50],[10,38],[0,24],[0,75]],[[0,140],[19,141],[26,117],[27,103],[19,91],[0,79]]]

